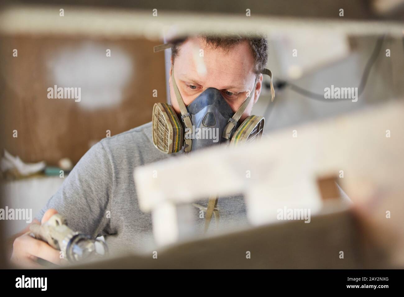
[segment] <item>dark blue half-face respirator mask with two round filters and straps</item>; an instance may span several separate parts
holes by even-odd
[[[168,47],[156,46],[154,51]],[[262,74],[271,78],[273,101],[275,92],[271,71],[265,69]],[[161,152],[172,154],[184,147],[184,152],[189,153],[219,143],[234,146],[252,143],[261,138],[265,123],[262,116],[248,116],[242,123],[238,123],[251,100],[255,85],[244,103],[234,112],[221,91],[216,88],[207,88],[186,107],[175,82],[174,70],[171,72],[171,81],[181,116],[179,118],[173,107],[167,103],[154,104],[152,138],[154,146]]]

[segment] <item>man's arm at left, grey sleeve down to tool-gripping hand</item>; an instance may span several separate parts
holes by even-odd
[[[33,223],[44,223],[53,214],[60,213],[74,231],[93,238],[109,234],[109,219],[113,169],[101,142],[84,154],[59,190],[47,202]],[[60,264],[59,251],[46,242],[29,236],[29,227],[13,236],[12,263],[31,268],[40,267],[37,258]]]

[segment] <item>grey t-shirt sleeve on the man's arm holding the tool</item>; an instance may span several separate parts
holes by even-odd
[[[113,174],[102,141],[93,145],[65,177],[36,219],[41,221],[46,210],[52,208],[66,218],[73,231],[93,238],[110,234],[107,211],[112,198]]]

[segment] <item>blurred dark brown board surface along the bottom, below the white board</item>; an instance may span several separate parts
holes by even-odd
[[[362,269],[391,268],[386,254],[366,244],[349,211],[288,221],[183,242],[73,268],[88,269]],[[340,251],[344,252],[341,259]],[[250,258],[248,259],[247,253]],[[157,255],[153,257],[153,255]]]

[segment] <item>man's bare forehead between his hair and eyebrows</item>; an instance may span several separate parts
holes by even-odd
[[[243,88],[255,77],[254,58],[246,41],[225,50],[206,45],[201,38],[191,38],[181,45],[175,65],[181,79],[215,84],[216,88]]]

